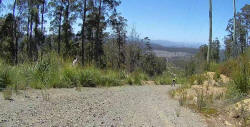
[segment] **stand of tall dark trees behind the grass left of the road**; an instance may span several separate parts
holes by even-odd
[[[127,32],[127,20],[117,11],[121,1],[15,0],[9,4],[1,3],[2,10],[8,7],[12,9],[3,11],[6,14],[3,13],[0,18],[2,71],[5,65],[18,68],[25,65],[24,69],[30,66],[37,69],[32,70],[38,71],[34,73],[39,73],[34,80],[45,80],[45,77],[51,77],[47,74],[49,71],[58,72],[53,65],[57,64],[57,69],[67,74],[54,74],[57,75],[54,80],[70,77],[70,80],[74,80],[74,76],[63,68],[75,59],[78,64],[76,68],[102,69],[102,75],[107,73],[105,70],[114,70],[124,72],[124,75],[145,73],[152,77],[166,70],[165,59],[153,53],[148,37],[141,39],[135,28],[131,33]],[[21,75],[2,73],[5,79]],[[47,80],[41,81],[41,84],[56,87]],[[1,83],[1,86],[7,87],[6,83]]]

